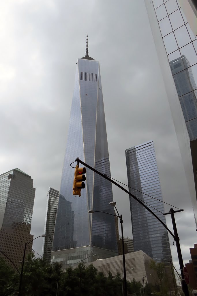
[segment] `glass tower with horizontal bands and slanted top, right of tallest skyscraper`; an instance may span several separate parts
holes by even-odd
[[[162,215],[164,206],[153,142],[126,149],[125,152],[128,186],[139,190],[129,188],[129,192],[146,202],[166,224],[165,216]],[[131,197],[129,200],[134,251],[142,250],[153,259],[172,260],[167,230],[139,202]]]

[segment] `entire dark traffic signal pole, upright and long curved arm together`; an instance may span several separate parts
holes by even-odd
[[[174,240],[176,242],[177,253],[178,253],[178,260],[179,260],[179,265],[180,265],[180,270],[181,270],[181,277],[182,277],[182,281],[181,281],[182,282],[182,289],[183,289],[183,292],[184,292],[185,296],[189,296],[188,285],[186,284],[185,279],[184,279],[184,275],[183,275],[183,258],[182,258],[181,249],[180,249],[180,242],[179,242],[180,239],[178,237],[177,228],[176,228],[176,222],[175,222],[175,218],[174,218],[174,213],[180,212],[180,211],[183,211],[183,210],[174,211],[173,209],[170,209],[169,214],[171,214],[171,218],[172,218],[172,225],[173,225],[173,229],[174,229],[174,234],[173,234],[172,231],[170,231],[170,229],[165,225],[165,223],[161,219],[159,219],[159,217],[157,217],[157,215],[152,210],[150,210],[149,207],[147,207],[146,205],[144,205],[144,203],[139,198],[137,198],[135,195],[133,195],[132,193],[130,193],[128,190],[126,190],[120,184],[118,184],[115,181],[113,181],[108,176],[100,173],[98,170],[95,170],[95,168],[92,168],[87,163],[84,163],[82,160],[79,159],[79,157],[77,157],[75,161],[77,161],[77,163],[81,163],[86,168],[89,168],[93,172],[95,172],[98,175],[102,176],[103,178],[107,179],[108,181],[110,181],[111,183],[115,184],[117,187],[119,187],[120,189],[122,189],[124,192],[126,192],[127,194],[129,194],[131,197],[134,198],[134,200],[136,200],[143,207],[145,207],[146,210],[148,210],[165,227],[165,229],[167,229],[167,231],[172,235],[172,237],[174,238]],[[167,214],[168,213],[166,213],[164,215],[167,215]]]

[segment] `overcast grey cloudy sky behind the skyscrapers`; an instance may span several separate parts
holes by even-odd
[[[111,175],[127,183],[125,149],[154,141],[163,199],[184,209],[176,221],[187,262],[196,227],[144,0],[3,0],[0,28],[0,173],[19,168],[34,179],[31,233],[43,233],[48,187],[60,187],[76,60],[88,33],[89,55],[100,61]],[[113,195],[132,237],[128,196],[114,187]],[[33,249],[42,253],[42,238]]]

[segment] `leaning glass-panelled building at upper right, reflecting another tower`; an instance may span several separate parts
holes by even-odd
[[[144,0],[144,2],[196,216],[197,18],[195,1]]]

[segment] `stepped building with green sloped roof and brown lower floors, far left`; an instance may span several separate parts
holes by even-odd
[[[0,250],[19,267],[31,231],[35,188],[33,179],[18,168],[0,175]],[[28,244],[26,256],[31,253]],[[6,262],[12,263],[3,255]]]

